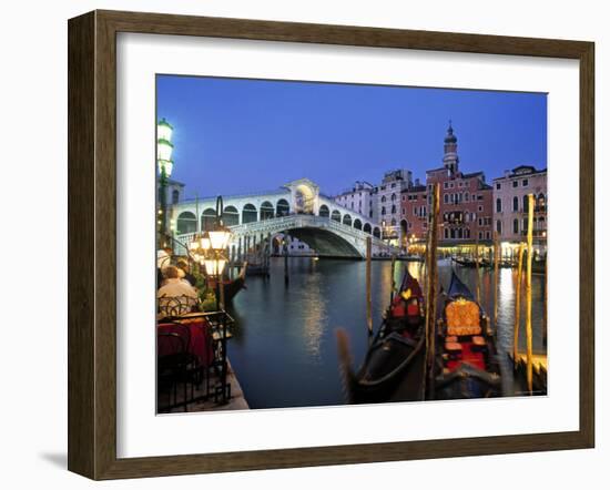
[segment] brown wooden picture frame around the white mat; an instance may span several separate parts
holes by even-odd
[[[289,41],[579,61],[580,427],[528,433],[151,458],[116,457],[116,33]],[[594,443],[594,45],[345,25],[118,11],[69,21],[69,455],[92,479],[157,477],[592,448]]]

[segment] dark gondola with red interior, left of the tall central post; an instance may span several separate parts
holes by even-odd
[[[394,297],[357,372],[345,331],[337,331],[339,361],[350,404],[373,404],[421,399],[425,351],[424,295],[417,279],[405,272]]]

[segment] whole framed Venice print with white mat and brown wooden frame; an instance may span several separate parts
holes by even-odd
[[[593,59],[71,19],[69,469],[593,447]]]

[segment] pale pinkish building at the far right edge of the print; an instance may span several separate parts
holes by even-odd
[[[522,242],[528,232],[528,195],[535,195],[533,238],[547,239],[547,169],[520,165],[494,178],[494,226],[504,242]]]

